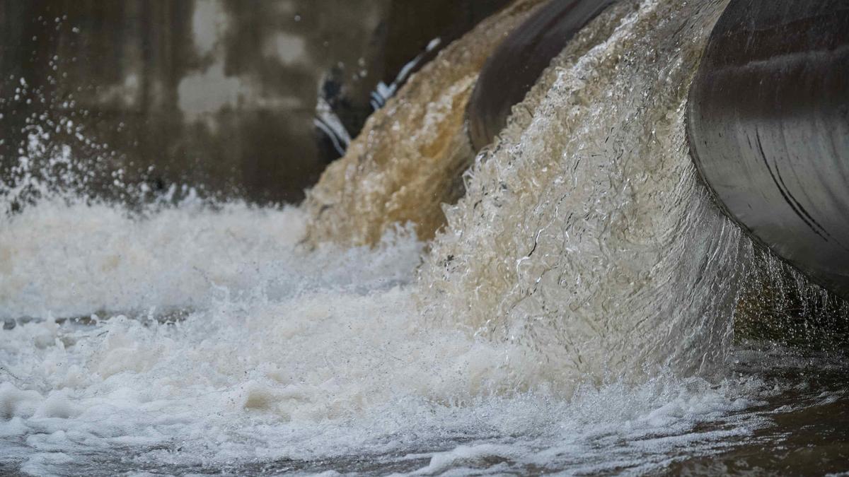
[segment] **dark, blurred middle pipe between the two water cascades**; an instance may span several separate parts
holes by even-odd
[[[616,0],[551,0],[486,60],[466,115],[469,139],[481,150],[507,126],[520,103],[577,31]]]

